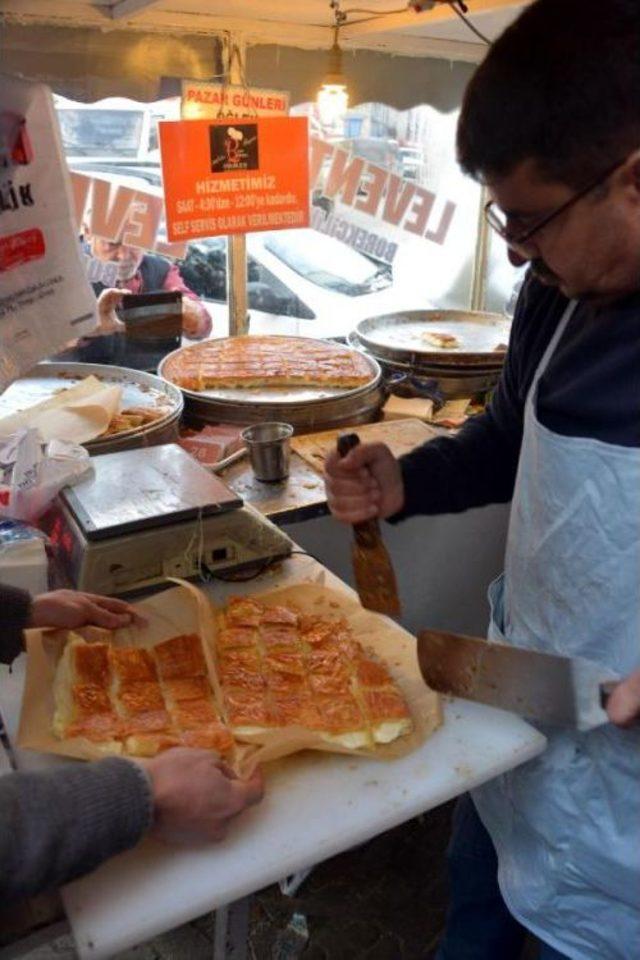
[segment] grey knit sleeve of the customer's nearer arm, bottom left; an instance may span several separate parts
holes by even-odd
[[[153,796],[138,764],[112,757],[0,777],[0,901],[60,886],[133,847]]]

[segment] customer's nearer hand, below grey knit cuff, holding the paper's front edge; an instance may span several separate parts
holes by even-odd
[[[151,778],[151,835],[167,843],[222,840],[230,821],[262,799],[259,772],[250,780],[239,780],[208,750],[176,747],[138,762]]]

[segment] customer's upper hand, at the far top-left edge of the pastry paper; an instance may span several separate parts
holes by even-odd
[[[144,620],[124,600],[99,597],[76,590],[54,590],[41,593],[31,604],[31,627],[60,627],[74,630],[93,624],[107,630],[143,624]]]

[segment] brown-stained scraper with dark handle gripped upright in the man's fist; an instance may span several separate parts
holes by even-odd
[[[359,443],[357,433],[341,434],[337,443],[338,454],[346,457]],[[400,613],[400,599],[396,575],[377,520],[353,524],[351,560],[362,606],[376,613],[397,616]]]

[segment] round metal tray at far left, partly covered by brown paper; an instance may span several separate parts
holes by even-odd
[[[143,427],[123,430],[109,437],[97,437],[84,446],[91,454],[130,450],[135,447],[170,443],[178,437],[184,407],[180,390],[152,373],[112,367],[100,363],[39,363],[9,386],[0,396],[0,418],[48,400],[61,390],[94,376],[109,386],[122,387],[122,408],[166,406],[165,416]]]

